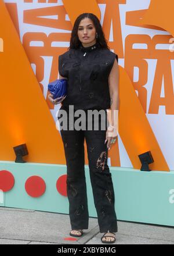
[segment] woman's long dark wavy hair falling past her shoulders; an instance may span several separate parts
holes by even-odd
[[[107,45],[107,40],[104,37],[104,33],[102,30],[102,26],[100,24],[100,20],[93,13],[82,13],[81,15],[79,15],[77,17],[77,19],[75,20],[74,26],[73,26],[73,30],[71,32],[70,47],[68,47],[68,49],[77,49],[82,45],[81,41],[79,41],[79,39],[78,39],[77,32],[78,32],[79,23],[81,22],[81,20],[83,20],[85,18],[89,18],[93,21],[93,24],[95,26],[96,33],[97,33],[97,38],[96,38],[97,46],[99,48],[110,49]]]

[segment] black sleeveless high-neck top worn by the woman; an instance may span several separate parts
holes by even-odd
[[[63,109],[109,109],[108,76],[118,55],[109,49],[90,47],[70,49],[59,55],[59,74],[67,77],[67,97],[61,102]]]

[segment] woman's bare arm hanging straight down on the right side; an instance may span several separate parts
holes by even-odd
[[[116,139],[118,135],[118,111],[119,111],[119,68],[117,60],[108,77],[108,85],[110,91],[110,109],[107,109],[108,129],[106,132],[107,148],[110,150],[111,140]],[[106,143],[105,141],[105,143]]]

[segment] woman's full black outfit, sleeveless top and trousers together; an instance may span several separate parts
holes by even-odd
[[[108,76],[117,54],[99,48],[96,43],[90,47],[70,49],[59,56],[59,73],[68,79],[67,97],[60,109],[67,111],[74,105],[74,111],[84,109],[110,108]],[[58,116],[60,122],[61,116]],[[69,120],[69,118],[68,118]],[[74,121],[76,118],[74,117]],[[84,140],[89,161],[90,182],[97,211],[100,232],[117,232],[117,216],[114,209],[114,188],[107,165],[106,130],[100,129],[103,122],[99,115],[99,130],[60,130],[67,163],[67,195],[70,204],[72,229],[88,229],[88,199],[85,182]],[[104,122],[107,122],[107,113]],[[93,120],[92,120],[93,124]],[[61,125],[61,122],[60,122]],[[107,127],[107,126],[106,126]],[[107,128],[106,128],[107,129]]]

